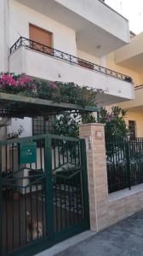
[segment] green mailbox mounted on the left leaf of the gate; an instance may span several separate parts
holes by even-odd
[[[19,143],[19,165],[37,162],[37,143]]]

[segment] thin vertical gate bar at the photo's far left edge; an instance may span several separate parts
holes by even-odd
[[[3,255],[2,145],[0,145],[0,255]]]

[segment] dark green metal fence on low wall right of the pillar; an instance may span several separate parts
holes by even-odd
[[[109,193],[143,183],[143,138],[106,140]]]

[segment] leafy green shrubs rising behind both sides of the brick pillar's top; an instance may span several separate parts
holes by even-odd
[[[108,113],[106,108],[100,108],[100,123],[105,124],[106,138],[123,139],[128,137],[129,130],[124,117],[127,111],[117,106],[112,107],[112,113]],[[71,114],[65,113],[56,118],[54,133],[69,137],[79,136],[79,123],[96,123],[96,118],[91,113]]]

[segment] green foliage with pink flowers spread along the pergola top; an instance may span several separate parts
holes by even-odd
[[[53,102],[72,103],[83,107],[95,107],[96,96],[101,92],[101,90],[74,83],[35,80],[14,73],[0,73],[0,91]]]

